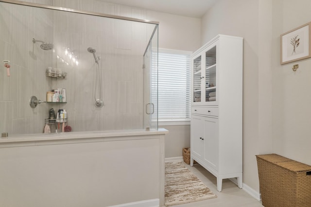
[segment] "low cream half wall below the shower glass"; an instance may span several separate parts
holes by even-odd
[[[153,199],[162,206],[165,133],[2,139],[0,206],[107,207]]]

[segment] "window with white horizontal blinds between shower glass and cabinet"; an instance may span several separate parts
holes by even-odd
[[[190,120],[191,52],[159,49],[158,119]]]

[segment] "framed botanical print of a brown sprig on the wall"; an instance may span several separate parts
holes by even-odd
[[[281,64],[311,57],[311,22],[280,35]]]

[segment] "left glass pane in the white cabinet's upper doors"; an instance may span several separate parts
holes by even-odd
[[[202,57],[199,56],[193,60],[193,102],[201,102],[204,101],[201,99],[201,79],[202,79]]]

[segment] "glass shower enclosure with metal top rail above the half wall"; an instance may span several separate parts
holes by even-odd
[[[10,76],[0,67],[0,133],[62,132],[50,109],[66,110],[71,132],[157,129],[158,23],[56,6],[0,0],[0,62],[11,65]],[[62,89],[66,102],[51,102]]]

